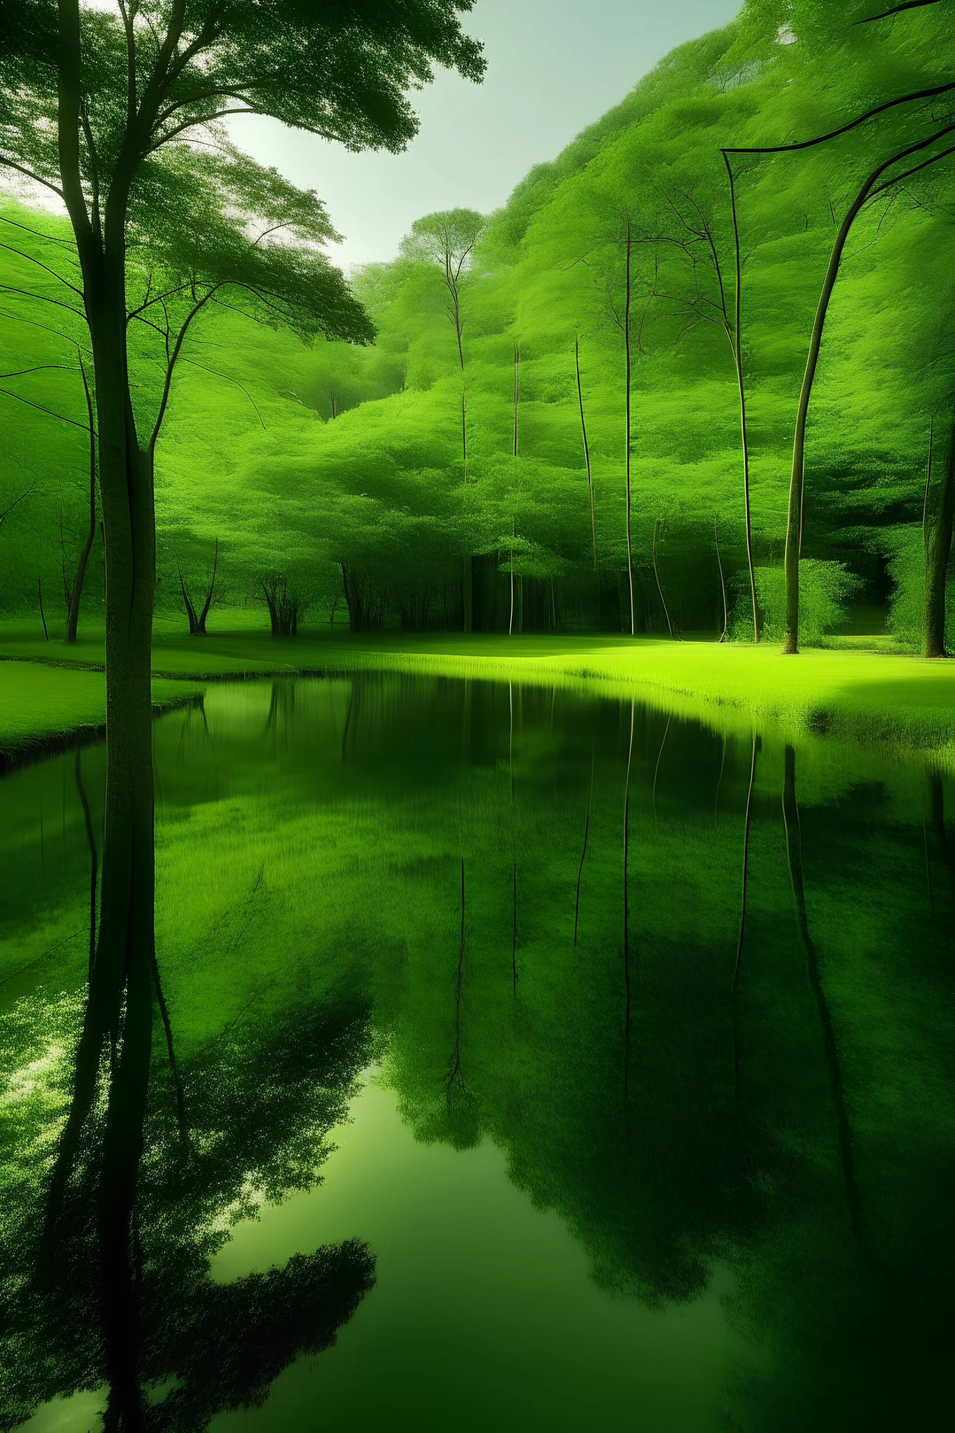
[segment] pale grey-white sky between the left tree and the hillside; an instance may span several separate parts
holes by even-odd
[[[477,0],[465,29],[484,40],[484,83],[438,73],[414,96],[421,130],[402,155],[351,155],[256,116],[235,116],[232,133],[318,191],[345,235],[336,264],[389,259],[422,214],[497,209],[531,165],[558,155],[667,50],[739,9],[740,0]]]

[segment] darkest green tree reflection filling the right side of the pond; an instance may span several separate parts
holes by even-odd
[[[942,956],[938,940],[912,954],[929,926],[921,830],[916,861],[906,845],[908,785],[891,814],[865,777],[840,777],[839,798],[820,800],[813,748],[796,768],[782,741],[763,755],[749,734],[706,745],[676,719],[660,764],[664,718],[637,712],[631,742],[621,712],[623,739],[604,739],[593,798],[588,759],[566,810],[525,764],[534,863],[521,887],[517,1009],[505,974],[511,853],[491,801],[470,808],[468,1101],[442,1089],[457,956],[442,880],[447,934],[417,954],[415,986],[441,990],[441,1005],[405,1006],[391,1052],[402,1112],[425,1141],[493,1139],[510,1178],[564,1219],[609,1291],[651,1307],[689,1301],[714,1264],[729,1265],[732,1323],[772,1370],[740,1377],[733,1426],[936,1426],[951,1333],[941,1043],[951,967],[929,953]],[[500,729],[504,747],[507,712]],[[693,790],[677,800],[679,781]],[[915,790],[922,800],[921,777]],[[946,841],[934,807],[928,834],[938,921]],[[640,952],[629,1002],[627,943]]]

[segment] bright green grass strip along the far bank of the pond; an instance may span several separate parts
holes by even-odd
[[[235,613],[220,620],[235,620]],[[31,623],[0,623],[0,745],[102,721],[102,678],[69,666],[103,662],[102,633],[72,649],[44,642]],[[53,672],[49,662],[59,665]],[[39,666],[37,663],[44,663]],[[783,656],[777,646],[672,642],[657,638],[483,636],[447,632],[306,631],[272,641],[259,629],[189,638],[182,623],[156,623],[153,672],[157,699],[173,684],[225,676],[294,675],[298,671],[388,669],[495,678],[538,685],[587,685],[607,695],[639,695],[722,727],[750,719],[795,731],[833,732],[934,749],[955,759],[955,663],[926,662],[888,649],[808,649]],[[16,671],[16,678],[14,678]],[[40,675],[43,672],[44,675]],[[46,685],[43,685],[46,684]],[[709,711],[704,711],[709,708]],[[720,708],[719,719],[714,708]]]

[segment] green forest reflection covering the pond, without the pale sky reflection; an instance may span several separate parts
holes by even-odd
[[[372,1059],[420,1139],[505,1151],[607,1297],[735,1271],[766,1358],[727,1373],[733,1426],[941,1426],[946,782],[724,728],[377,676],[162,718],[147,1101],[120,1030],[66,1159],[102,751],[9,774],[1,1426],[109,1384],[107,1427],[146,1390],[142,1426],[203,1429],[328,1347],[374,1283],[361,1230],[232,1284],[209,1261],[321,1178]],[[112,1242],[110,1119],[143,1148]]]

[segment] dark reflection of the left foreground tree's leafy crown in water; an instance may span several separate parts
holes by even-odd
[[[49,1005],[37,1003],[37,1027],[49,1037]],[[24,1027],[23,1040],[31,1033]],[[213,1283],[209,1262],[235,1219],[316,1182],[326,1135],[369,1058],[367,1010],[349,1003],[302,1007],[275,1029],[226,1032],[179,1066],[188,1142],[163,1062],[145,1118],[126,1270],[110,1270],[109,1257],[103,1264],[102,1218],[113,1198],[102,1178],[105,1060],[54,1228],[44,1232],[49,1187],[37,1178],[21,1181],[24,1197],[4,1217],[13,1237],[4,1241],[0,1427],[50,1399],[109,1384],[107,1430],[198,1433],[216,1413],[261,1404],[292,1360],[334,1344],[374,1283],[374,1258],[358,1240],[231,1284]],[[36,1158],[36,1145],[23,1158]]]

